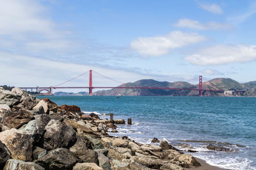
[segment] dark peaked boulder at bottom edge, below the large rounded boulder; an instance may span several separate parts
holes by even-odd
[[[78,161],[77,157],[66,148],[57,148],[49,151],[44,157],[35,160],[36,164],[45,169],[72,169]]]

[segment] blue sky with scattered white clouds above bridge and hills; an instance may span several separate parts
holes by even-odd
[[[256,1],[0,0],[0,85],[256,80]]]

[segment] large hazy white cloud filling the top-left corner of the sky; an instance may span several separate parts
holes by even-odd
[[[0,45],[22,52],[67,51],[74,42],[60,31],[40,1],[0,1]]]

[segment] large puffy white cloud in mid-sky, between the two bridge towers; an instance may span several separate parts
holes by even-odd
[[[164,36],[140,37],[131,42],[131,47],[138,53],[147,56],[166,55],[171,49],[204,41],[205,36],[197,33],[173,31]]]

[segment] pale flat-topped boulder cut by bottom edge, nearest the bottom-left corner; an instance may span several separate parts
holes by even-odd
[[[22,170],[44,170],[44,167],[35,164],[34,162],[24,162],[22,160],[9,159],[4,170],[22,169]]]

